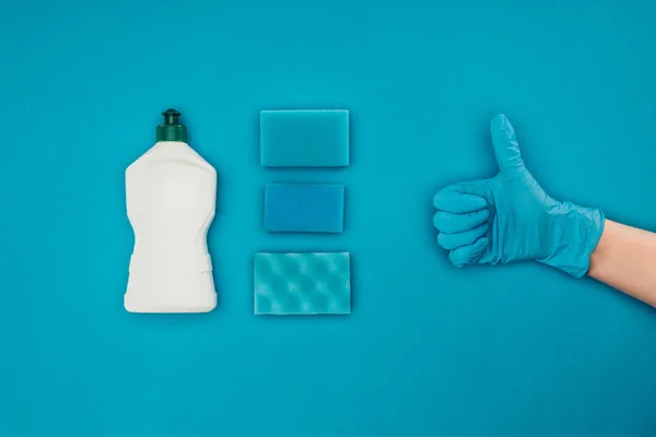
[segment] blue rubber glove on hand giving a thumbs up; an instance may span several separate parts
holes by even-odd
[[[505,116],[496,116],[490,130],[501,172],[435,194],[437,243],[456,265],[537,260],[583,276],[604,231],[604,213],[549,197],[524,165]]]

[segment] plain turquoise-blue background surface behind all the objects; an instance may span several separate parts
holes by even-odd
[[[0,0],[0,436],[652,436],[656,312],[535,263],[456,269],[441,186],[496,172],[654,228],[656,3]],[[220,174],[220,304],[122,308],[124,170],[160,113]],[[258,164],[258,113],[351,110],[352,165]],[[339,236],[268,181],[343,182]],[[257,250],[350,250],[353,314],[253,315]],[[656,262],[656,261],[655,261]]]

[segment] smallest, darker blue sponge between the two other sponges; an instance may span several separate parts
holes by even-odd
[[[267,232],[340,233],[343,223],[343,185],[269,184],[265,188]]]

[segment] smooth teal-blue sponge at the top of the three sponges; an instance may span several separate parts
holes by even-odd
[[[348,110],[262,110],[260,162],[265,167],[349,165]]]

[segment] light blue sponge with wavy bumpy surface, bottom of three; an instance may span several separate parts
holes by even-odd
[[[348,252],[255,253],[256,315],[351,312]]]

